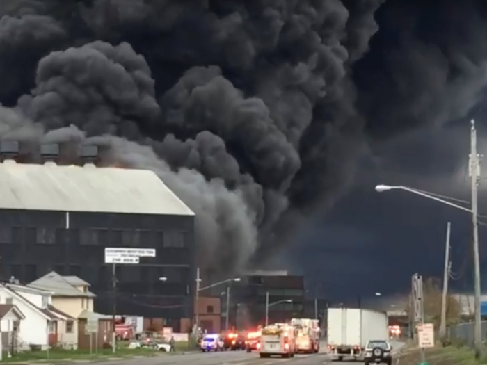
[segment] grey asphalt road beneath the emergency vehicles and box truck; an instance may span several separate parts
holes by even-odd
[[[399,350],[404,343],[392,342],[394,352]],[[319,354],[295,355],[291,359],[271,357],[261,359],[256,352],[250,354],[244,351],[225,352],[191,352],[184,355],[163,355],[160,357],[146,357],[140,359],[118,360],[98,362],[97,365],[324,365],[331,364],[330,357],[326,354],[326,346],[321,347]],[[334,363],[335,364],[335,363]],[[337,365],[358,365],[362,362],[336,362]]]

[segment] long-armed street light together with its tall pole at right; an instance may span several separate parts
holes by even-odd
[[[474,127],[472,127],[472,133],[474,133]],[[472,136],[472,138],[474,138]],[[474,153],[475,152],[475,153]],[[472,161],[472,159],[474,161]],[[475,337],[475,357],[478,358],[481,354],[481,314],[480,314],[480,263],[479,263],[479,213],[478,213],[478,197],[477,197],[477,184],[478,184],[478,155],[476,152],[476,147],[472,147],[472,153],[470,154],[470,168],[472,170],[472,201],[465,202],[463,200],[452,199],[450,197],[445,197],[443,195],[429,193],[424,190],[418,190],[415,188],[408,188],[407,186],[389,186],[389,185],[377,185],[376,191],[378,193],[382,193],[383,191],[388,190],[404,190],[408,191],[409,193],[413,193],[416,195],[420,195],[422,197],[426,197],[430,200],[436,200],[436,202],[440,202],[442,204],[446,204],[452,206],[456,209],[461,211],[468,211],[468,213],[472,214],[472,231],[473,231],[473,252],[474,252],[474,289],[475,289],[475,297],[474,297],[474,308],[475,308],[475,318],[474,318],[474,337]],[[457,202],[463,202],[466,204],[472,204],[472,209],[467,208],[466,206],[461,206],[448,200],[455,200]]]

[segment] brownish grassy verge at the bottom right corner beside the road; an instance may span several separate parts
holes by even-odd
[[[418,365],[421,362],[420,350],[410,348],[399,356],[397,365]],[[476,365],[487,364],[487,361],[477,362],[474,352],[470,348],[449,346],[445,348],[431,348],[426,350],[426,362],[429,365]]]

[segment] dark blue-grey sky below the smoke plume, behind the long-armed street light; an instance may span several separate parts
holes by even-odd
[[[295,238],[283,262],[289,260],[311,287],[323,288],[321,296],[335,300],[404,293],[413,273],[442,277],[447,222],[451,222],[452,289],[472,291],[468,212],[402,190],[374,189],[377,184],[403,185],[470,201],[469,133],[470,122],[465,120],[454,128],[416,131],[385,145],[374,159],[365,159],[349,192],[330,211],[317,214]],[[487,155],[485,138],[479,138],[482,152]],[[479,210],[487,212],[485,159],[481,174]],[[486,227],[480,226],[484,292],[486,234]]]

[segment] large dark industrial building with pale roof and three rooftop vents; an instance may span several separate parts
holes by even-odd
[[[24,164],[18,143],[0,144],[1,277],[76,275],[97,294],[95,310],[111,314],[104,248],[156,248],[156,257],[116,267],[117,312],[167,318],[168,325],[191,318],[191,209],[152,171],[97,168],[95,146],[83,146],[81,165],[56,164],[58,145],[40,152],[43,163]]]

